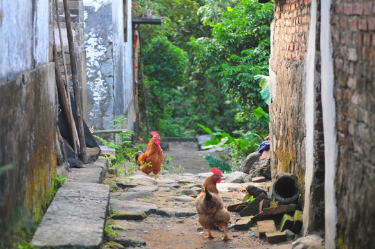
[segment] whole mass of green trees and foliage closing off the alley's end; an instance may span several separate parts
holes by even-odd
[[[232,138],[267,136],[269,92],[262,80],[268,75],[272,1],[137,2],[136,15],[163,19],[162,26],[139,28],[138,133],[197,136],[203,134],[199,123]]]

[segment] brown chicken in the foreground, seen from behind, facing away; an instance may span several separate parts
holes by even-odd
[[[223,200],[219,196],[216,183],[221,181],[221,171],[219,169],[211,170],[212,176],[208,176],[202,185],[202,192],[196,197],[195,207],[199,215],[199,223],[208,230],[208,237],[214,238],[211,234],[211,225],[217,225],[224,231],[223,241],[232,240],[226,233],[226,226],[230,220],[228,210],[223,208]]]

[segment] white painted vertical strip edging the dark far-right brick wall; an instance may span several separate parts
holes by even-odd
[[[337,160],[336,144],[336,111],[333,98],[333,50],[331,42],[331,0],[320,1],[321,29],[320,51],[322,53],[322,109],[324,125],[324,154],[325,154],[325,245],[328,249],[336,248],[337,208],[335,198],[335,176]]]

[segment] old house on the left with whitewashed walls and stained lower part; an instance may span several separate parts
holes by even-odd
[[[54,0],[0,3],[0,248],[14,237],[25,239],[54,196],[62,110],[54,40],[62,77],[72,81],[62,2],[57,1],[62,43]],[[111,129],[113,119],[123,115],[124,127],[132,129],[131,1],[69,0],[68,6],[84,121],[94,129]]]

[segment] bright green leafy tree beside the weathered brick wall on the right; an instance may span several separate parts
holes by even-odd
[[[252,113],[257,107],[268,111],[255,75],[268,75],[273,4],[255,0],[205,3],[214,6],[216,13],[223,12],[218,16],[208,11],[207,6],[200,9],[207,15],[202,19],[212,27],[212,37],[191,39],[194,62],[205,68],[205,75],[230,98],[237,109],[236,120],[244,129],[267,133],[266,120],[257,120]]]

